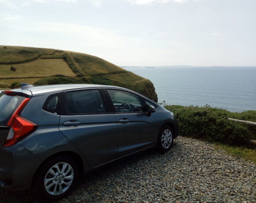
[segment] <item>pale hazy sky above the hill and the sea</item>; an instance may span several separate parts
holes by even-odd
[[[256,0],[0,0],[0,45],[118,66],[256,66]]]

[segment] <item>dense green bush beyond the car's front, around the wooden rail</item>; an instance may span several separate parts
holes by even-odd
[[[256,126],[228,120],[235,118],[256,122],[256,111],[232,113],[209,105],[164,105],[174,113],[179,125],[179,135],[208,141],[241,145],[245,139],[256,139]]]

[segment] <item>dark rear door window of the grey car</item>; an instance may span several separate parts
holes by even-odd
[[[106,113],[99,90],[80,90],[66,93],[64,114]]]

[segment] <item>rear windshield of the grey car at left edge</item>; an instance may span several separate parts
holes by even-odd
[[[5,126],[24,97],[0,94],[0,126]]]

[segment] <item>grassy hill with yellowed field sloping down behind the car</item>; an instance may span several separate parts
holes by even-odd
[[[150,80],[84,53],[0,45],[0,90],[19,83],[104,84],[134,90],[157,102]]]

